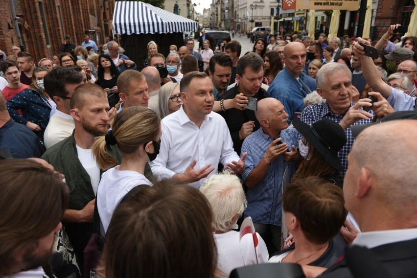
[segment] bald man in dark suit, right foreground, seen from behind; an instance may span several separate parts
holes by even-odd
[[[389,277],[417,273],[417,187],[410,179],[416,172],[416,138],[416,120],[373,125],[357,137],[348,158],[345,207],[362,231],[352,244],[371,249]],[[321,277],[354,276],[341,260]]]

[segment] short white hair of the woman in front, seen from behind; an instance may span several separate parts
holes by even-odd
[[[239,178],[228,170],[209,177],[200,191],[209,200],[213,210],[213,228],[216,231],[230,230],[235,224],[232,218],[242,214],[248,205]]]

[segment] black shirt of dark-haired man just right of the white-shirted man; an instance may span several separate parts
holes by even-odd
[[[236,84],[235,87],[220,95],[218,100],[232,99],[238,93],[238,84]],[[253,97],[255,97],[259,101],[262,98],[269,97],[269,94],[266,93],[264,89],[260,88],[259,91]],[[221,111],[219,112],[219,114],[223,116],[226,120],[227,126],[230,131],[230,135],[232,137],[234,151],[238,155],[240,155],[243,140],[239,139],[239,131],[242,127],[242,124],[251,120],[255,121],[254,131],[260,128],[260,124],[255,117],[255,111],[249,109],[238,110],[236,108],[232,108],[226,111]]]

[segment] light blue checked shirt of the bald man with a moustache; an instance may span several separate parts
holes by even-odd
[[[278,137],[281,137],[282,142],[288,144],[288,150],[291,150],[291,145],[298,148],[297,136],[297,130],[289,127],[282,130]],[[274,139],[264,134],[262,128],[260,128],[243,141],[242,154],[244,152],[248,153],[245,159],[246,168],[242,174],[243,181],[246,181],[249,173],[258,165]],[[269,164],[262,181],[255,187],[248,188],[246,193],[248,207],[245,214],[251,216],[255,223],[281,226],[282,178],[287,165],[292,177],[296,170],[294,162],[286,162],[282,156],[278,156]]]

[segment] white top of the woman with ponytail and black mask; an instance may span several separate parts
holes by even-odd
[[[109,228],[113,212],[121,199],[137,185],[150,185],[144,175],[129,170],[117,170],[113,167],[103,173],[97,190],[97,209],[104,232]],[[104,234],[102,234],[104,235]]]

